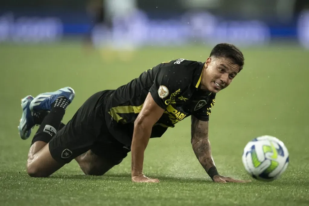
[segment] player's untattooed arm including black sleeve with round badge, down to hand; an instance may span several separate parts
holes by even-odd
[[[167,99],[175,91],[183,91],[189,81],[187,70],[179,63],[174,64],[174,61],[159,64],[153,70],[156,70],[155,80],[134,122],[131,144],[133,182],[159,182],[158,179],[150,179],[143,174],[144,152],[153,125],[160,119],[169,104]]]

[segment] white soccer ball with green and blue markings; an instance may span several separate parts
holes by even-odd
[[[255,179],[278,179],[289,164],[289,152],[282,141],[261,136],[249,141],[242,155],[243,166]]]

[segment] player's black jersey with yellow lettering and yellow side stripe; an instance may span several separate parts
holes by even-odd
[[[154,125],[151,137],[161,137],[168,127],[174,127],[190,115],[208,121],[210,109],[215,103],[215,93],[199,88],[204,64],[185,59],[166,61],[116,89],[108,99],[106,108],[111,133],[121,136],[126,131],[126,135],[132,136],[132,125],[148,92],[165,109]]]

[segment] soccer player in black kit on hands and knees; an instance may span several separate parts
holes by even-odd
[[[22,139],[40,127],[28,154],[31,177],[48,177],[75,159],[88,175],[103,175],[131,151],[133,182],[159,182],[143,174],[150,138],[191,116],[191,143],[214,182],[246,182],[218,173],[211,155],[208,121],[216,93],[243,69],[242,52],[232,44],[216,45],[202,63],[185,59],[163,62],[116,90],[89,97],[66,124],[61,120],[74,98],[70,87],[22,99]]]

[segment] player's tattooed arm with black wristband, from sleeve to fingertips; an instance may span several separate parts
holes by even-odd
[[[208,121],[199,120],[193,115],[191,116],[191,144],[197,159],[214,182],[247,182],[225,177],[218,173],[208,139]]]

